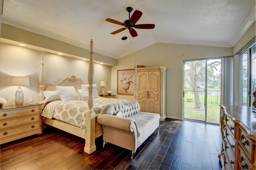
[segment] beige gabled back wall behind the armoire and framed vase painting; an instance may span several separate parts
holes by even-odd
[[[133,68],[135,58],[138,65],[166,66],[166,114],[182,119],[183,61],[231,55],[232,48],[155,43],[119,59],[118,65],[112,66],[111,89],[116,94],[117,70]],[[133,96],[128,95],[117,97],[134,100]]]

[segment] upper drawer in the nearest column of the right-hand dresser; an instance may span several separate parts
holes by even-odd
[[[252,141],[246,137],[247,133],[245,133],[242,130],[241,126],[239,127],[239,133],[238,133],[238,141],[240,143],[240,145],[244,148],[244,150],[246,151],[246,153],[248,154],[249,158],[252,158]]]

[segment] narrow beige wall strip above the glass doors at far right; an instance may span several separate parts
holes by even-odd
[[[256,27],[255,23],[252,27],[242,36],[242,38],[234,45],[233,47],[233,55],[235,55],[244,45],[246,45],[253,37],[256,35]]]

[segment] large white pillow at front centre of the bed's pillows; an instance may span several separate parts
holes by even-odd
[[[62,101],[78,100],[74,86],[55,86]]]

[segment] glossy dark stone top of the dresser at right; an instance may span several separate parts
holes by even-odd
[[[234,121],[245,125],[251,132],[251,135],[256,135],[256,113],[252,112],[252,107],[247,106],[231,106],[221,105],[226,107],[226,113],[234,117]]]

